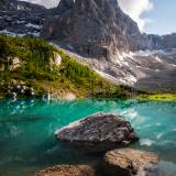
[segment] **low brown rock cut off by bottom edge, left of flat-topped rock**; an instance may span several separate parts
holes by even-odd
[[[96,176],[87,165],[58,165],[41,170],[35,176]]]

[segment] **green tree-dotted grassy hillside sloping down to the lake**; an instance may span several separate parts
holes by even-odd
[[[62,56],[56,66],[55,55]],[[19,61],[18,66],[16,62]],[[10,80],[24,81],[38,96],[50,90],[57,97],[73,92],[77,97],[127,98],[131,89],[118,87],[101,78],[88,66],[80,64],[45,41],[34,37],[0,35],[0,97]]]

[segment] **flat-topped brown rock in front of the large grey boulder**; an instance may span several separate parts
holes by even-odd
[[[157,176],[158,158],[151,152],[122,148],[107,152],[106,172],[109,176]]]

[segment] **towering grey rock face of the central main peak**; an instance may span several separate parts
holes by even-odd
[[[120,48],[142,47],[138,42],[143,35],[117,0],[62,0],[57,9],[62,13],[46,22],[41,34],[44,38],[99,58],[109,58]]]

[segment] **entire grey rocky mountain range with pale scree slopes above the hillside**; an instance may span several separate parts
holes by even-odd
[[[176,88],[176,34],[141,33],[117,0],[62,0],[54,9],[35,13],[0,11],[0,31],[53,42],[80,55],[116,84],[148,90]]]

